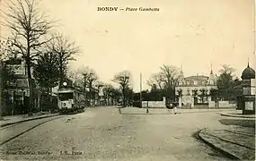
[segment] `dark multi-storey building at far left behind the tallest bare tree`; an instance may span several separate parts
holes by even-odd
[[[5,64],[7,68],[12,70],[13,78],[6,83],[7,89],[4,91],[4,113],[23,114],[26,112],[26,106],[28,106],[30,97],[28,72],[25,61],[22,58],[12,58],[5,61]],[[33,83],[32,106],[33,108],[40,108],[39,90],[35,83]]]

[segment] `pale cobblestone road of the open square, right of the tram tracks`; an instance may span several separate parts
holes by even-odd
[[[87,109],[40,124],[4,143],[4,160],[225,160],[193,137],[204,127],[221,128],[215,112],[135,114],[138,108]],[[161,111],[161,114],[159,113]],[[152,113],[152,110],[150,110]],[[31,121],[31,123],[36,123]],[[31,124],[29,123],[29,124]],[[25,123],[23,123],[25,125]],[[4,129],[21,131],[21,125]],[[8,131],[9,130],[9,131]]]

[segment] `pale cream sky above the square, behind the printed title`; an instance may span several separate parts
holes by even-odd
[[[100,12],[97,7],[152,7],[159,12]],[[41,0],[40,8],[82,49],[72,70],[94,69],[104,82],[117,72],[132,73],[143,89],[163,64],[181,67],[185,76],[208,75],[211,64],[234,67],[241,77],[248,59],[255,69],[253,0]]]

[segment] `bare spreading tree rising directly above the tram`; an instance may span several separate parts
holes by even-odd
[[[75,61],[74,55],[80,53],[81,50],[79,47],[75,47],[75,42],[70,42],[62,34],[54,35],[52,38],[47,47],[49,52],[57,55],[59,84],[61,84],[66,76],[66,65],[69,61]]]

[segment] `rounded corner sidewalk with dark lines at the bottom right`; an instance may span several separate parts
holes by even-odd
[[[228,129],[199,132],[199,139],[227,157],[255,160],[255,129],[230,126]]]

